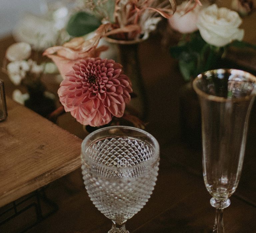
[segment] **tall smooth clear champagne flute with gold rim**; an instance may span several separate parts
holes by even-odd
[[[213,232],[224,232],[223,209],[230,205],[243,165],[247,126],[256,95],[256,77],[218,69],[193,82],[202,116],[203,177],[216,208]]]

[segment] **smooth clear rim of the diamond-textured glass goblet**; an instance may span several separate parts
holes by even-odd
[[[87,144],[88,141],[90,141],[90,138],[92,138],[93,136],[95,136],[95,134],[98,134],[98,133],[100,133],[102,131],[111,130],[111,129],[117,129],[117,128],[135,130],[137,132],[140,132],[140,133],[146,135],[148,138],[150,138],[150,140],[152,141],[151,147],[152,147],[152,149],[154,151],[154,153],[152,154],[152,157],[150,159],[142,162],[142,163],[139,163],[139,164],[136,164],[136,165],[133,165],[133,166],[110,167],[110,166],[107,166],[107,165],[104,165],[104,164],[99,164],[95,160],[91,159],[89,156],[86,156],[86,153],[85,153],[86,149],[83,149],[83,148],[86,147],[85,145]],[[114,135],[115,134],[113,134],[113,136]],[[109,136],[111,137],[111,135],[109,135]],[[133,135],[130,135],[130,137],[136,138],[136,136],[133,136]],[[106,138],[106,136],[99,137],[99,138],[97,138],[97,140],[92,140],[89,144],[92,144],[93,141],[98,141],[101,138]],[[138,139],[142,140],[141,138],[138,138]],[[107,167],[108,170],[112,170],[112,171],[117,171],[117,170],[118,171],[130,171],[130,170],[133,170],[136,167],[150,167],[150,166],[154,166],[159,161],[159,143],[158,143],[158,141],[156,140],[156,138],[152,134],[148,133],[147,131],[145,131],[143,129],[139,129],[139,128],[131,127],[131,126],[108,126],[108,127],[97,129],[97,130],[93,131],[92,133],[88,134],[84,138],[84,140],[82,141],[82,144],[81,144],[81,159],[82,159],[82,161],[85,158],[86,158],[86,161],[90,162],[90,165],[95,164],[95,165],[100,166],[100,167]]]

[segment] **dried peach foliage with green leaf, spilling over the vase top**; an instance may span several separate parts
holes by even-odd
[[[72,36],[83,36],[105,25],[101,36],[112,35],[118,40],[146,39],[155,30],[161,17],[170,18],[176,9],[174,0],[80,0],[79,12],[67,25]]]

